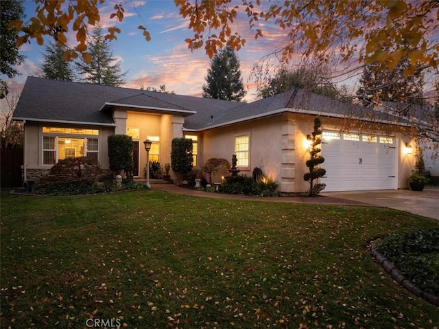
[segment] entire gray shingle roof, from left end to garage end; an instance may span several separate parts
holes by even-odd
[[[14,112],[14,120],[111,126],[115,123],[110,111],[107,110],[115,104],[132,106],[139,111],[141,109],[163,109],[163,111],[175,111],[185,116],[189,115],[185,119],[185,129],[193,131],[283,111],[336,117],[347,115],[364,120],[396,122],[395,118],[390,115],[316,95],[303,89],[293,89],[251,103],[241,103],[34,77],[28,77],[26,80]]]

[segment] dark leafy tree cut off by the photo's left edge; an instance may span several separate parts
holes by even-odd
[[[20,47],[16,45],[19,30],[16,27],[10,29],[9,25],[24,18],[23,1],[0,1],[0,73],[10,79],[20,74],[14,66],[20,65],[25,56],[19,54]],[[8,84],[0,79],[0,98],[5,95],[8,95]]]

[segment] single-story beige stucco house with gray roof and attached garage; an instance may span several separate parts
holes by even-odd
[[[66,157],[92,156],[108,170],[108,136],[126,134],[134,141],[138,177],[146,163],[143,140],[153,142],[150,160],[163,165],[171,162],[171,140],[187,137],[194,141],[195,168],[236,154],[240,174],[259,167],[278,181],[281,194],[305,192],[307,135],[319,115],[325,192],[407,188],[415,150],[408,124],[384,114],[369,118],[370,111],[301,89],[239,103],[29,77],[13,119],[25,127],[25,181],[38,180]],[[361,120],[346,131],[353,117]]]

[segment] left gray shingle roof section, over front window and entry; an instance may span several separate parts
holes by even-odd
[[[108,106],[105,105],[108,103],[187,111],[186,115],[196,111],[197,117],[188,122],[189,128],[202,125],[211,112],[219,113],[237,104],[171,93],[28,77],[14,112],[14,120],[114,125],[110,111],[106,111]]]

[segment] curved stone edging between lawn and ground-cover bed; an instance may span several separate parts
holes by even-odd
[[[426,293],[421,290],[416,284],[412,281],[408,280],[399,269],[390,262],[382,253],[379,253],[376,249],[377,241],[373,241],[370,246],[370,253],[375,258],[379,266],[381,266],[387,273],[390,274],[393,280],[401,284],[407,291],[413,293],[414,295],[425,299],[430,304],[435,306],[439,306],[439,297],[432,295],[431,293]]]

